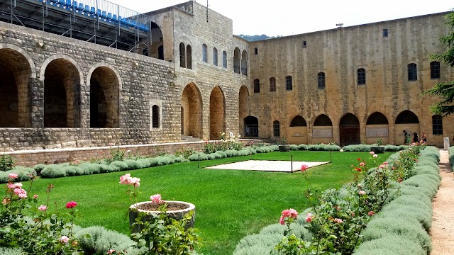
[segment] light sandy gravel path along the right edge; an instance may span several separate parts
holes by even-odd
[[[454,254],[454,174],[450,171],[448,151],[440,150],[441,186],[433,199],[432,255]]]

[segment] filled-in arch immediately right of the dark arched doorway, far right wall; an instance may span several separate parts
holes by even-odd
[[[366,120],[366,143],[374,144],[381,138],[384,145],[389,144],[389,122],[388,118],[380,112],[369,115]]]

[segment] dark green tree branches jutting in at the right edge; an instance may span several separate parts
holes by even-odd
[[[433,60],[441,60],[448,64],[450,67],[454,67],[454,12],[446,14],[445,19],[447,20],[446,24],[450,26],[451,31],[450,33],[448,33],[448,35],[440,38],[440,41],[443,43],[443,45],[446,45],[448,47],[448,50],[441,54],[431,55],[431,58]],[[454,113],[454,81],[436,84],[432,89],[424,91],[421,96],[427,94],[431,96],[441,97],[440,102],[434,103],[429,108],[432,113],[439,115],[449,115],[451,113]]]

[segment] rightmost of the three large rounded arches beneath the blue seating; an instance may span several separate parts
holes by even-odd
[[[120,91],[122,81],[116,69],[97,63],[87,74],[90,91],[90,128],[120,127]]]

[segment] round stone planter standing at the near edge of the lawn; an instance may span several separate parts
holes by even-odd
[[[182,220],[184,215],[187,215],[189,212],[192,213],[191,220],[187,222],[185,228],[194,227],[194,222],[196,220],[196,206],[192,203],[182,202],[182,201],[165,201],[169,206],[167,210],[167,215],[175,220]],[[153,215],[159,215],[161,212],[159,210],[143,210],[140,208],[146,207],[146,205],[151,204],[151,201],[135,203],[129,207],[129,225],[132,226],[135,222],[135,218],[138,217],[140,212],[145,212],[147,215],[143,217],[143,220],[150,220]],[[171,210],[172,205],[181,208],[179,210]],[[133,232],[140,232],[139,226],[134,227]]]

